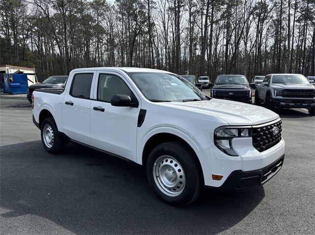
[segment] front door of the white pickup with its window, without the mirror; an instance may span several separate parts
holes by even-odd
[[[90,106],[91,139],[95,148],[136,160],[137,121],[139,107],[117,107],[111,98],[124,94],[134,99],[128,81],[118,73],[99,73]]]

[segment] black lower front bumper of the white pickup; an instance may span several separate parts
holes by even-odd
[[[242,170],[233,171],[220,187],[211,188],[217,188],[226,191],[233,190],[240,191],[244,189],[257,187],[268,182],[271,178],[273,178],[280,171],[280,169],[283,166],[283,163],[284,155],[262,169],[254,171]]]

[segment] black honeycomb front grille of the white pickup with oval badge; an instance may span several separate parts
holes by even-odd
[[[252,128],[252,145],[259,152],[278,144],[281,140],[282,121],[276,122],[271,125]],[[274,134],[275,129],[278,128],[279,132]]]

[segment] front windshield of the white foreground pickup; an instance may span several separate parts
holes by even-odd
[[[198,88],[181,76],[168,73],[128,73],[141,93],[152,102],[209,100]]]

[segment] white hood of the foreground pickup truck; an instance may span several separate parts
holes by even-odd
[[[209,116],[217,116],[229,125],[257,125],[273,121],[279,115],[264,107],[240,102],[211,99],[210,101],[159,103]]]

